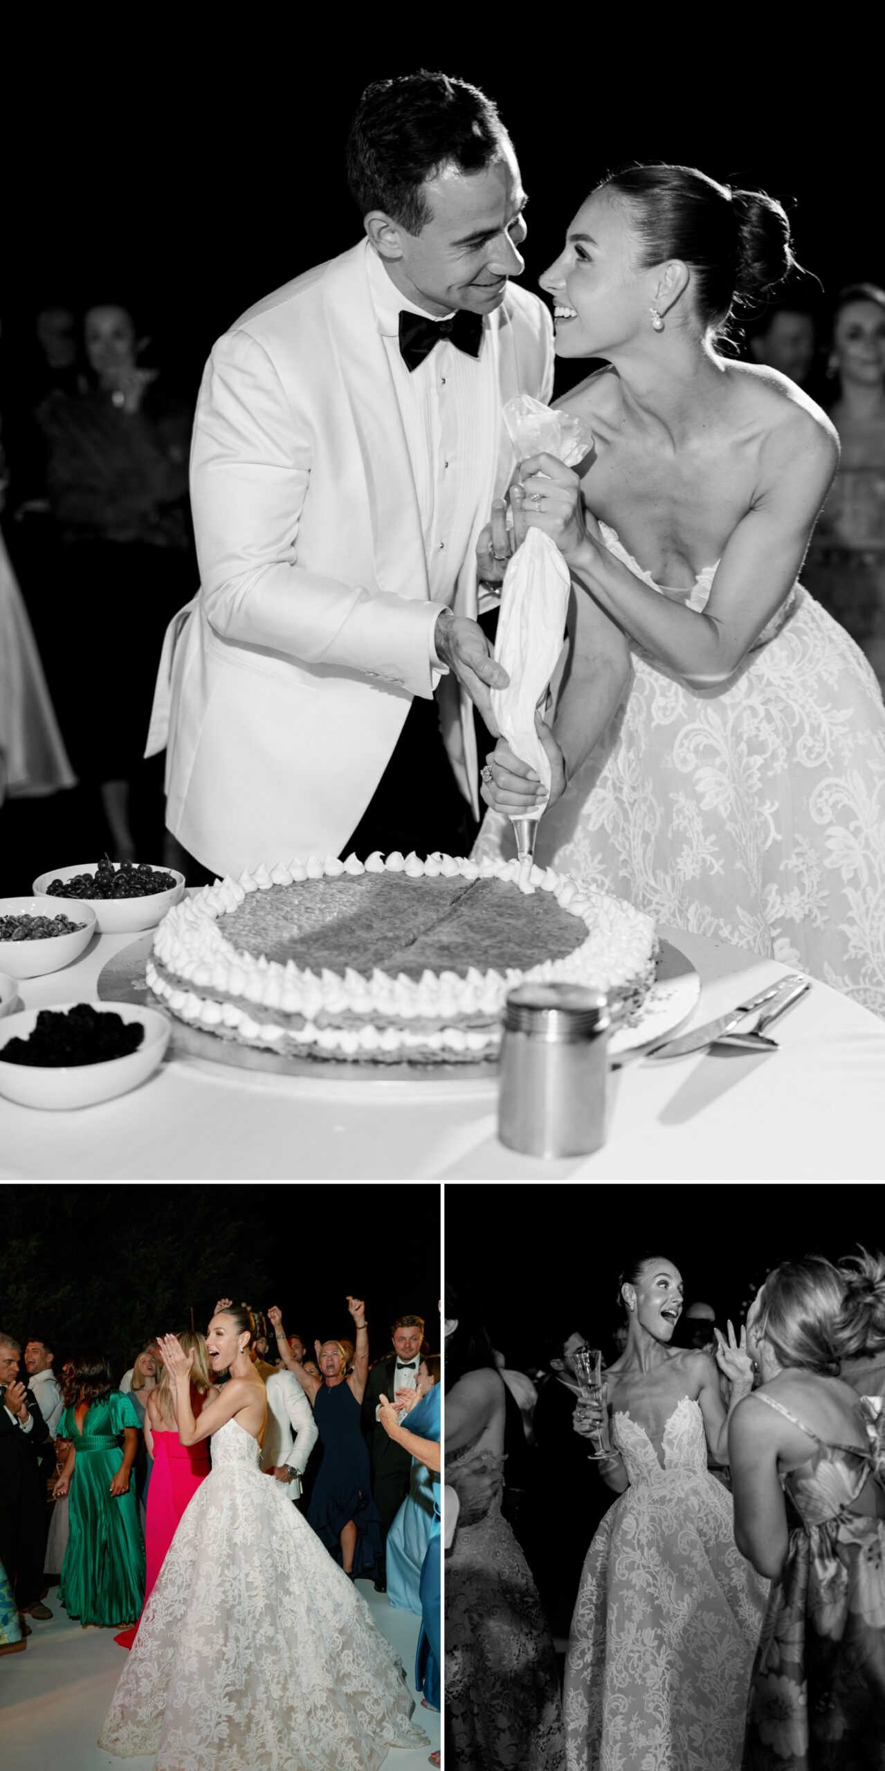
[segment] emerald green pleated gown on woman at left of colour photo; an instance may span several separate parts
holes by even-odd
[[[142,1422],[120,1390],[94,1403],[78,1433],[74,1410],[65,1408],[57,1433],[76,1450],[71,1482],[71,1534],[62,1562],[58,1599],[81,1624],[129,1624],[145,1597],[145,1544],[138,1523],[135,1470],[127,1495],[110,1484],[122,1461],[122,1431]]]

